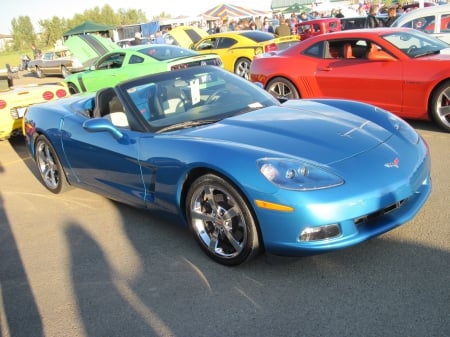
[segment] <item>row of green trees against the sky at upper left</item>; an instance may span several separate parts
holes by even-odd
[[[14,39],[14,51],[30,50],[34,43],[40,49],[54,47],[62,40],[63,33],[85,21],[93,21],[109,26],[122,26],[148,22],[141,9],[123,9],[117,11],[106,4],[102,8],[96,6],[75,14],[71,19],[54,16],[38,22],[40,34],[36,34],[29,16],[19,16],[11,20],[11,32]]]

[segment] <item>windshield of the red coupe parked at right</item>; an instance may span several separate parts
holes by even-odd
[[[383,35],[383,38],[412,58],[439,54],[449,48],[445,42],[415,29],[388,33]]]

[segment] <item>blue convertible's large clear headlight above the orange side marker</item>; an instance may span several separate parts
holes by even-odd
[[[257,161],[262,175],[272,184],[288,190],[311,191],[342,185],[344,180],[311,163],[284,158]]]

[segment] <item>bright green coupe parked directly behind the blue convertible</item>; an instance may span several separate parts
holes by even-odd
[[[169,44],[144,44],[110,51],[89,70],[65,79],[69,92],[76,94],[112,87],[134,77],[193,66],[216,65],[222,60],[215,54],[204,54]]]

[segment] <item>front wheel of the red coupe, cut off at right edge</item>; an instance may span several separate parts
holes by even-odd
[[[441,83],[430,99],[430,116],[442,129],[450,132],[450,81]]]

